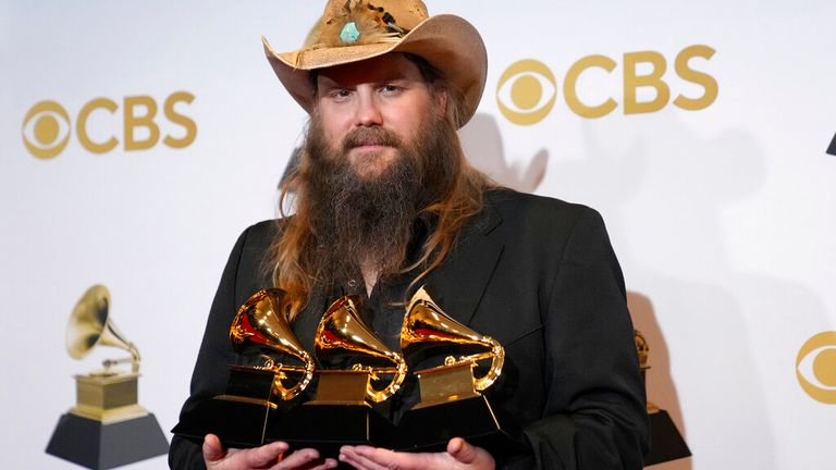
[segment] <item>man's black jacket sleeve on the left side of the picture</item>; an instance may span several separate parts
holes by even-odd
[[[249,232],[250,228],[238,237],[223,270],[192,373],[190,395],[183,405],[181,418],[200,400],[222,394],[226,387],[229,366],[236,363],[237,357],[230,346],[230,324],[237,311],[238,269]],[[176,470],[205,469],[201,445],[175,435],[169,448],[169,467]]]

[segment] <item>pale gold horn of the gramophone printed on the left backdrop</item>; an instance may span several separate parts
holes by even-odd
[[[98,345],[113,346],[131,352],[132,369],[139,370],[139,351],[113,324],[110,314],[110,293],[103,285],[87,289],[73,309],[66,325],[66,350],[73,359],[81,359]],[[104,360],[110,368],[126,360]]]

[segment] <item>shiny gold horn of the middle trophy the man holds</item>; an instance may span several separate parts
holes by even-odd
[[[357,312],[359,299],[344,296],[329,307],[317,327],[315,339],[317,358],[323,363],[336,363],[343,359],[360,359],[354,370],[369,372],[366,396],[380,403],[391,397],[401,387],[406,376],[406,361],[399,352],[391,350],[366,326]],[[393,367],[378,367],[364,363],[362,358],[383,359]],[[381,391],[373,386],[379,374],[394,374],[392,381]]]

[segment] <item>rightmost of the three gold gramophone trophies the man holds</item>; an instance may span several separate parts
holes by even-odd
[[[448,355],[443,363],[415,372],[420,401],[398,423],[404,449],[442,448],[454,436],[471,441],[504,434],[488,398],[488,389],[501,375],[505,350],[495,339],[458,323],[421,287],[407,306],[401,330],[401,349],[414,359],[433,349],[476,349],[469,355]],[[488,372],[476,376],[480,361]]]

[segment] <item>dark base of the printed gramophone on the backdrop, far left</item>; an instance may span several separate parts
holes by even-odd
[[[65,413],[47,445],[47,454],[95,470],[168,453],[169,442],[151,413],[112,423]]]

